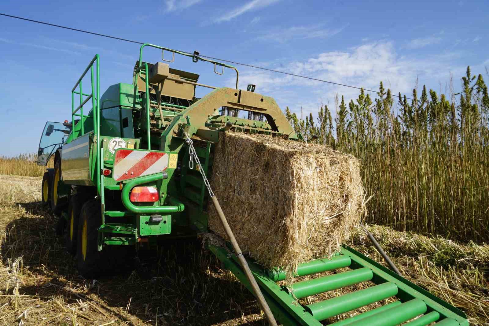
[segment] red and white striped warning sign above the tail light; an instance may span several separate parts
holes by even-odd
[[[112,177],[117,181],[158,173],[168,167],[168,154],[119,149],[115,153]]]

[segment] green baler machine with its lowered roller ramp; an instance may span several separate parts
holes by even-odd
[[[173,62],[179,54],[210,62],[218,74],[234,70],[236,88],[200,84],[197,74],[143,62],[145,47],[161,50],[163,61]],[[141,246],[209,232],[207,206],[217,199],[205,176],[212,168],[214,144],[226,130],[303,141],[273,98],[254,93],[254,85],[239,90],[238,70],[198,52],[144,44],[133,83],[112,85],[101,96],[99,67],[95,55],[72,89],[71,122],[47,122],[38,151],[40,165],[54,157],[54,168],[43,178],[43,203],[60,216],[58,232],[65,234],[67,250],[77,256],[85,277],[117,266],[118,259]],[[196,98],[196,87],[212,91]],[[283,325],[323,325],[330,317],[393,298],[334,325],[468,325],[459,309],[347,246],[331,259],[300,265],[295,277],[333,274],[290,287],[279,285],[286,278],[279,267],[267,270],[244,258],[235,243],[207,247],[257,296],[266,315],[273,313],[271,324],[275,318]],[[335,272],[343,268],[348,270]],[[309,305],[299,302],[367,281],[373,285]]]

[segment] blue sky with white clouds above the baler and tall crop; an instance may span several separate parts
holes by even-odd
[[[394,93],[426,84],[455,89],[467,65],[489,67],[487,0],[447,1],[13,1],[0,12],[203,55],[255,64]],[[46,120],[70,118],[70,91],[95,53],[101,91],[131,82],[139,46],[0,16],[0,155],[34,152]],[[159,51],[144,60],[160,60]],[[177,57],[172,67],[200,73],[200,82],[232,86],[233,74]],[[357,91],[237,66],[240,88],[275,97],[304,115],[334,94]]]

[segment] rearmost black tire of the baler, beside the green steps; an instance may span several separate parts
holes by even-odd
[[[89,200],[80,212],[77,246],[78,273],[86,279],[128,271],[134,265],[133,246],[106,246],[98,251],[101,222],[100,201]]]

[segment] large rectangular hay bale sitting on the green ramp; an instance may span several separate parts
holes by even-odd
[[[303,141],[226,132],[211,185],[243,252],[288,271],[339,250],[364,213],[358,160]],[[209,227],[227,238],[212,204]]]

